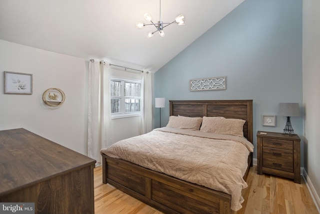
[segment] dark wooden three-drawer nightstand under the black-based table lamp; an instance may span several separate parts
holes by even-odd
[[[300,183],[300,138],[297,135],[257,131],[256,141],[258,174],[278,175]]]

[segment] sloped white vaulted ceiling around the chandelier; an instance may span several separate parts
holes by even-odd
[[[155,72],[243,1],[162,0],[161,21],[185,25],[147,39],[135,23],[159,21],[159,0],[0,0],[0,40]]]

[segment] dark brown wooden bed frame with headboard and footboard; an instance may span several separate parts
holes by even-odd
[[[169,101],[170,115],[223,116],[243,119],[243,134],[252,143],[252,100]],[[252,166],[252,153],[248,168]],[[102,154],[102,182],[164,213],[230,213],[231,195],[186,182],[134,163]]]

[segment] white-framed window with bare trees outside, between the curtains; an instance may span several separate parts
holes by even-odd
[[[111,79],[111,115],[127,117],[140,115],[141,83],[138,81]]]

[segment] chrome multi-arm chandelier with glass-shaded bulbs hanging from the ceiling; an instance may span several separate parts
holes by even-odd
[[[163,28],[165,28],[166,26],[169,26],[169,25],[171,25],[171,24],[173,24],[173,23],[176,23],[176,24],[178,24],[178,25],[184,25],[184,16],[181,14],[181,15],[179,15],[179,16],[177,16],[177,17],[175,17],[175,20],[173,21],[173,22],[170,22],[170,23],[163,23],[162,21],[161,21],[161,0],[160,0],[160,13],[159,13],[160,15],[160,18],[159,18],[159,21],[157,22],[157,23],[153,23],[152,22],[152,20],[151,20],[151,16],[150,16],[150,14],[149,13],[145,13],[144,14],[144,19],[147,21],[147,22],[150,22],[151,24],[144,24],[143,22],[137,22],[136,24],[135,24],[135,27],[137,28],[137,29],[141,29],[141,28],[143,28],[144,26],[147,26],[147,25],[153,25],[155,28],[156,28],[156,30],[155,31],[150,31],[148,34],[147,34],[147,38],[150,38],[150,37],[152,37],[153,36],[153,34],[155,33],[155,32],[159,32],[159,35],[161,36],[161,37],[164,37],[164,32],[163,32]]]

